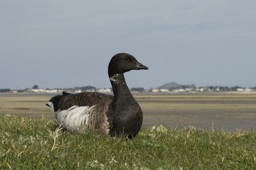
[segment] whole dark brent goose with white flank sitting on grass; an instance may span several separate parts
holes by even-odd
[[[143,116],[140,105],[126,85],[124,73],[130,70],[148,70],[130,54],[119,53],[108,65],[108,76],[114,96],[97,92],[82,92],[53,96],[46,104],[58,125],[69,132],[85,129],[111,136],[125,134],[132,138],[139,133]]]

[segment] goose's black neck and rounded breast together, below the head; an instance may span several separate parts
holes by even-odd
[[[143,116],[140,105],[126,85],[124,74],[109,74],[115,100],[113,102],[113,126],[110,134],[125,133],[129,138],[137,135],[142,125]]]

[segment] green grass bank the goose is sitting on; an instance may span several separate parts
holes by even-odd
[[[256,132],[142,129],[136,139],[70,134],[48,119],[0,116],[2,170],[256,169]]]

